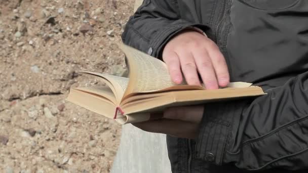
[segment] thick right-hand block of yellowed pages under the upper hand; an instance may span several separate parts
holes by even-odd
[[[143,96],[147,95],[147,97]],[[154,97],[151,97],[154,95]],[[164,110],[167,107],[198,105],[208,102],[218,102],[226,99],[238,99],[243,97],[255,97],[264,95],[258,86],[247,88],[225,88],[219,90],[188,90],[165,93],[146,93],[129,98],[121,108],[125,114],[153,112]]]

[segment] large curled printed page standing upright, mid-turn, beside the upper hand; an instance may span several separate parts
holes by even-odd
[[[130,70],[129,87],[125,96],[131,93],[155,92],[176,85],[164,62],[124,44],[120,47],[127,56]]]

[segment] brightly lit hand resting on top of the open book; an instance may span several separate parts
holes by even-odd
[[[201,85],[198,73],[207,89],[229,83],[227,65],[217,45],[197,31],[185,30],[172,38],[164,48],[163,60],[177,84],[183,81],[183,74],[188,84]]]

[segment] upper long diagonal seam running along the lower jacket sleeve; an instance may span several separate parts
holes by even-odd
[[[305,116],[305,117],[302,117],[302,118],[299,118],[297,120],[294,120],[292,122],[289,122],[288,124],[285,124],[277,129],[275,129],[274,131],[270,132],[270,133],[267,133],[259,138],[256,138],[256,139],[252,139],[252,140],[248,140],[248,141],[245,141],[242,145],[241,145],[241,148],[244,148],[246,145],[250,145],[251,143],[254,143],[254,142],[258,142],[258,141],[261,141],[263,139],[266,139],[268,137],[272,137],[274,134],[278,133],[279,131],[285,129],[285,128],[288,128],[289,126],[295,124],[295,123],[298,123],[298,122],[301,122],[301,121],[304,121],[308,119],[308,116]],[[227,153],[231,154],[231,155],[236,155],[238,154],[239,152],[241,151],[241,149],[239,151],[236,151],[236,152],[229,152],[227,151]]]

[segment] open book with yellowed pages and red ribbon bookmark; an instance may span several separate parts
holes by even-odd
[[[177,85],[164,62],[129,46],[120,47],[127,56],[129,78],[83,72],[99,77],[106,86],[72,88],[68,101],[125,124],[150,120],[151,113],[157,114],[168,107],[264,95],[258,86],[244,82],[230,83],[218,90],[185,83]]]

